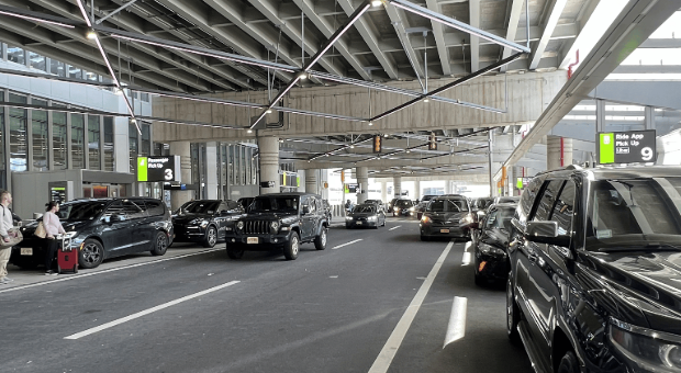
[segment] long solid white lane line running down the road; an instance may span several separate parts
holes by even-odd
[[[443,253],[437,259],[437,262],[435,262],[435,265],[433,265],[431,273],[428,273],[428,276],[421,285],[421,289],[418,289],[418,292],[416,292],[416,295],[412,299],[412,303],[409,305],[409,307],[406,307],[406,310],[404,310],[404,315],[402,315],[402,318],[400,318],[398,326],[395,326],[394,330],[392,330],[392,334],[388,338],[388,341],[386,342],[386,346],[383,346],[383,349],[379,353],[378,358],[376,358],[376,361],[373,361],[371,369],[369,369],[369,373],[388,372],[388,369],[392,363],[392,359],[394,359],[395,354],[398,353],[398,349],[402,344],[406,331],[412,325],[414,317],[416,317],[416,313],[418,312],[418,308],[421,308],[423,299],[425,299],[425,296],[428,294],[431,285],[433,285],[435,276],[437,276],[437,272],[439,272],[439,269],[443,267],[443,263],[445,262],[445,259],[447,258],[447,255],[451,250],[453,246],[454,242],[450,241],[449,245],[447,245],[447,247],[445,248],[445,251],[443,251]]]

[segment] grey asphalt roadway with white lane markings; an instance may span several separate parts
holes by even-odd
[[[503,289],[414,221],[334,227],[294,261],[196,250],[0,287],[0,372],[532,372]]]

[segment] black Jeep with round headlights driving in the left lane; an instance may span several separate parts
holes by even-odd
[[[239,259],[246,250],[283,249],[287,260],[298,258],[300,245],[326,248],[328,221],[322,197],[309,193],[256,196],[247,214],[227,228],[227,255]]]

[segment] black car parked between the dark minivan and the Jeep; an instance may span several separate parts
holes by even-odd
[[[243,216],[244,207],[235,201],[199,200],[185,203],[172,215],[176,242],[199,242],[214,247],[225,239],[225,228]]]

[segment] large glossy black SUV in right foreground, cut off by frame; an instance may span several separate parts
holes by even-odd
[[[681,168],[551,171],[512,219],[507,332],[537,372],[681,370]]]

